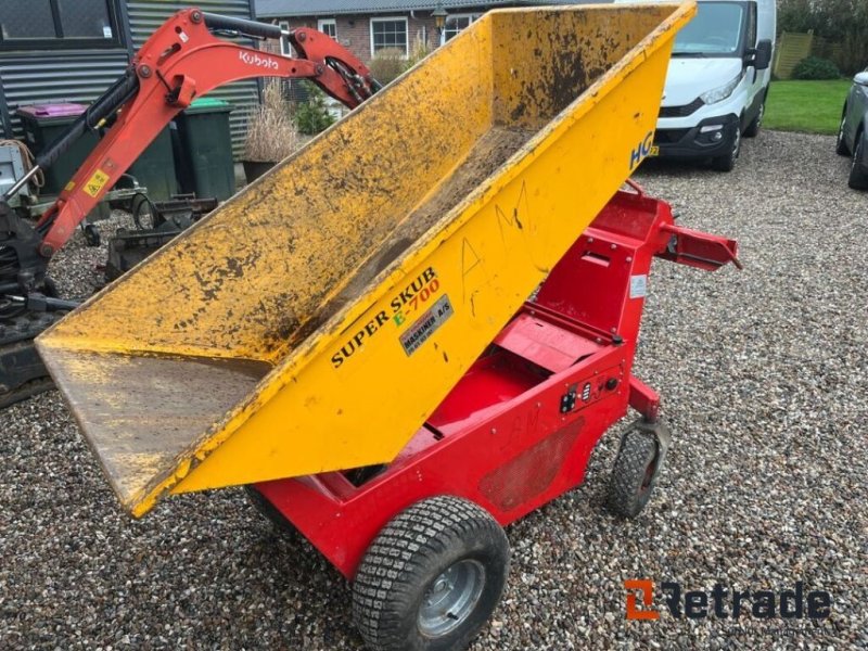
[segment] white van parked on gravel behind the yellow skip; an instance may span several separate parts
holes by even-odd
[[[775,0],[699,0],[675,37],[649,155],[732,169],[763,122],[776,23]]]

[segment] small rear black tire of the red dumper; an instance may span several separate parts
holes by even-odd
[[[607,506],[615,515],[635,518],[648,503],[659,476],[654,438],[635,430],[627,432],[609,480]]]

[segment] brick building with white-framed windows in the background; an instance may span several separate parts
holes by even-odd
[[[418,42],[436,48],[496,7],[556,3],[557,0],[256,0],[255,12],[260,21],[324,31],[368,63],[383,49],[409,54]],[[437,29],[435,12],[446,13],[443,29]],[[283,50],[289,53],[289,43],[283,43]]]

